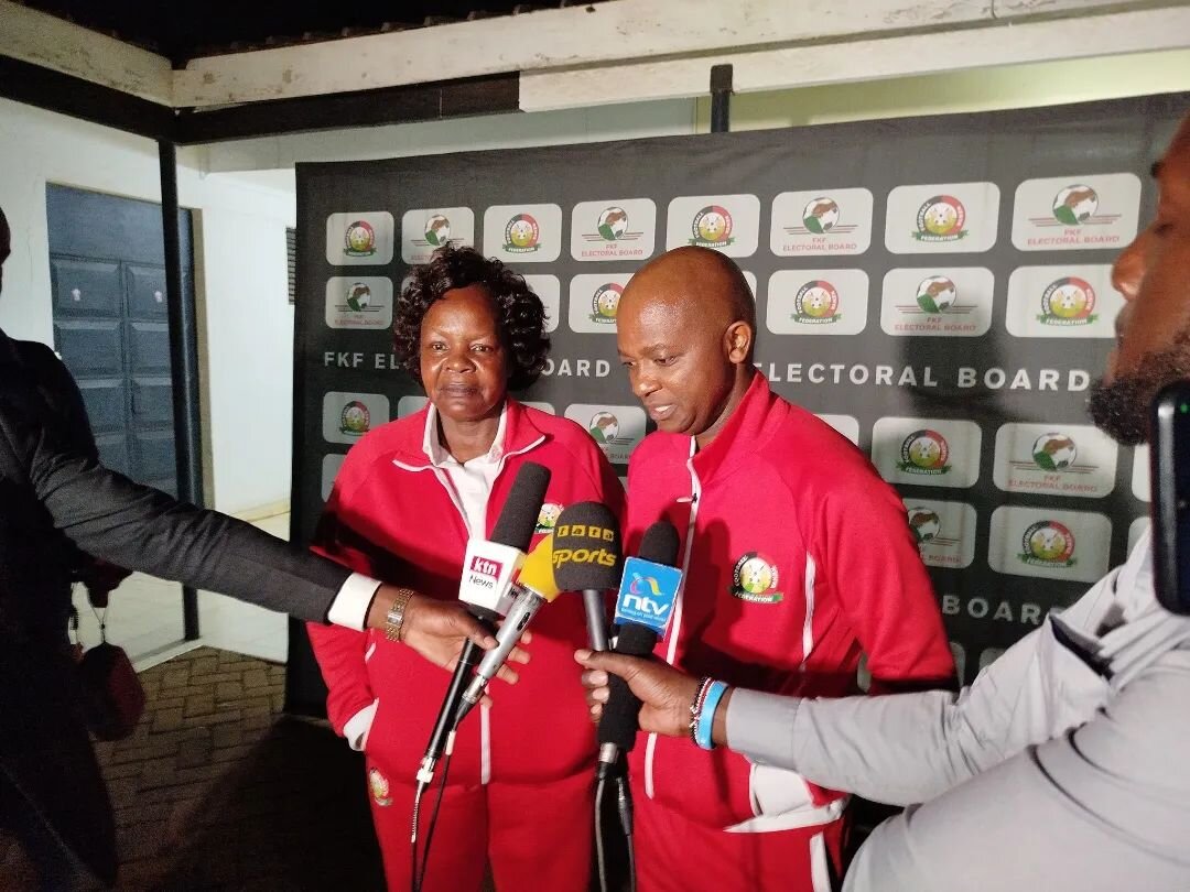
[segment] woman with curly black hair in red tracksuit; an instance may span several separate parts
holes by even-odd
[[[534,545],[574,502],[603,502],[620,515],[622,488],[587,432],[507,395],[540,375],[544,323],[525,281],[472,249],[443,249],[415,270],[394,331],[430,403],[351,450],[315,548],[455,599],[466,541],[490,536],[524,461],[553,471]],[[595,737],[571,659],[585,634],[581,598],[558,598],[533,621],[532,661],[519,684],[497,685],[491,710],[461,724],[426,892],[477,890],[489,863],[501,890],[587,888]],[[331,722],[367,756],[388,887],[403,891],[414,774],[450,672],[378,633],[311,626],[309,636]],[[424,800],[424,816],[436,797],[432,790]]]

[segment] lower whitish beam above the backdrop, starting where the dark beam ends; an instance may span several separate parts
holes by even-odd
[[[521,75],[521,109],[706,95],[712,65],[733,65],[733,90],[818,87],[1033,62],[1190,48],[1190,5],[1081,18],[997,21],[987,27],[751,52],[644,59]],[[1190,71],[1186,73],[1190,86]]]

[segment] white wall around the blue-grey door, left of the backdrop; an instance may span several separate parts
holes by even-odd
[[[205,175],[181,152],[178,199],[195,209],[207,502],[243,511],[289,496],[293,309],[284,228],[292,189]],[[0,100],[0,207],[13,231],[0,327],[52,344],[45,186],[161,200],[148,139]]]

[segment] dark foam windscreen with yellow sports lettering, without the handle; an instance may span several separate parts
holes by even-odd
[[[553,573],[563,591],[603,591],[620,584],[620,524],[599,502],[578,502],[553,524]]]

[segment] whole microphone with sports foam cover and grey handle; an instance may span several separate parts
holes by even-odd
[[[607,608],[603,593],[618,585],[622,563],[620,524],[606,504],[578,502],[558,517],[553,529],[555,555],[582,555],[583,548],[590,552],[590,559],[556,559],[553,577],[563,591],[583,593],[587,640],[593,651],[606,651]],[[607,559],[608,552],[614,560]]]

